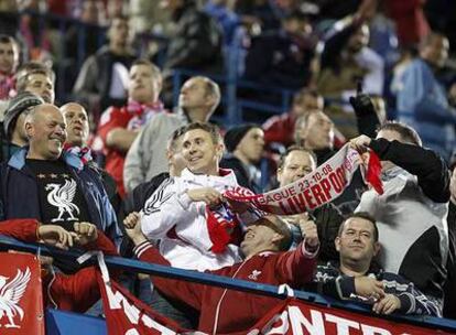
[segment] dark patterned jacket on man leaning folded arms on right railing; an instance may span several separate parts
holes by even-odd
[[[401,275],[391,272],[368,271],[365,275],[373,277],[383,282],[384,293],[394,294],[401,301],[400,313],[442,316],[437,302],[420,292],[412,282]],[[314,277],[314,289],[318,293],[340,300],[352,300],[356,302],[373,304],[373,301],[357,295],[355,289],[355,277],[345,275],[338,267],[328,263],[318,266]]]

